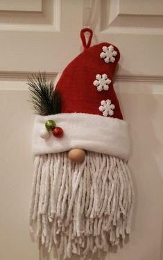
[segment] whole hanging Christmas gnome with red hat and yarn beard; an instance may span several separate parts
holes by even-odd
[[[113,88],[119,49],[89,47],[91,29],[80,36],[84,50],[55,90],[45,74],[28,79],[37,114],[30,227],[65,259],[119,245],[130,233],[133,202],[128,123]]]

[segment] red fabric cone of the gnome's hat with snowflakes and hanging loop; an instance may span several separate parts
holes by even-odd
[[[87,45],[85,31],[90,33]],[[80,36],[84,51],[69,63],[56,86],[62,97],[61,112],[99,114],[122,119],[113,88],[114,71],[120,58],[119,49],[110,43],[89,47],[91,29],[81,30]]]

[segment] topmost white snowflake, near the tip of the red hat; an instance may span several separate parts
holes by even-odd
[[[110,61],[113,63],[115,61],[114,56],[117,56],[117,52],[114,51],[114,47],[110,45],[109,47],[103,46],[103,52],[101,52],[100,57],[104,59],[105,63]]]

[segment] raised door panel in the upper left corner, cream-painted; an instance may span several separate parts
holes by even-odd
[[[0,31],[59,31],[60,8],[61,0],[1,1]]]

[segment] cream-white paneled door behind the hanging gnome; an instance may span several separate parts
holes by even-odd
[[[162,0],[0,1],[1,260],[50,257],[28,233],[34,116],[26,78],[38,70],[55,78],[81,51],[83,26],[94,29],[94,44],[119,47],[115,90],[132,139],[132,234],[105,259],[163,259],[162,15]]]

